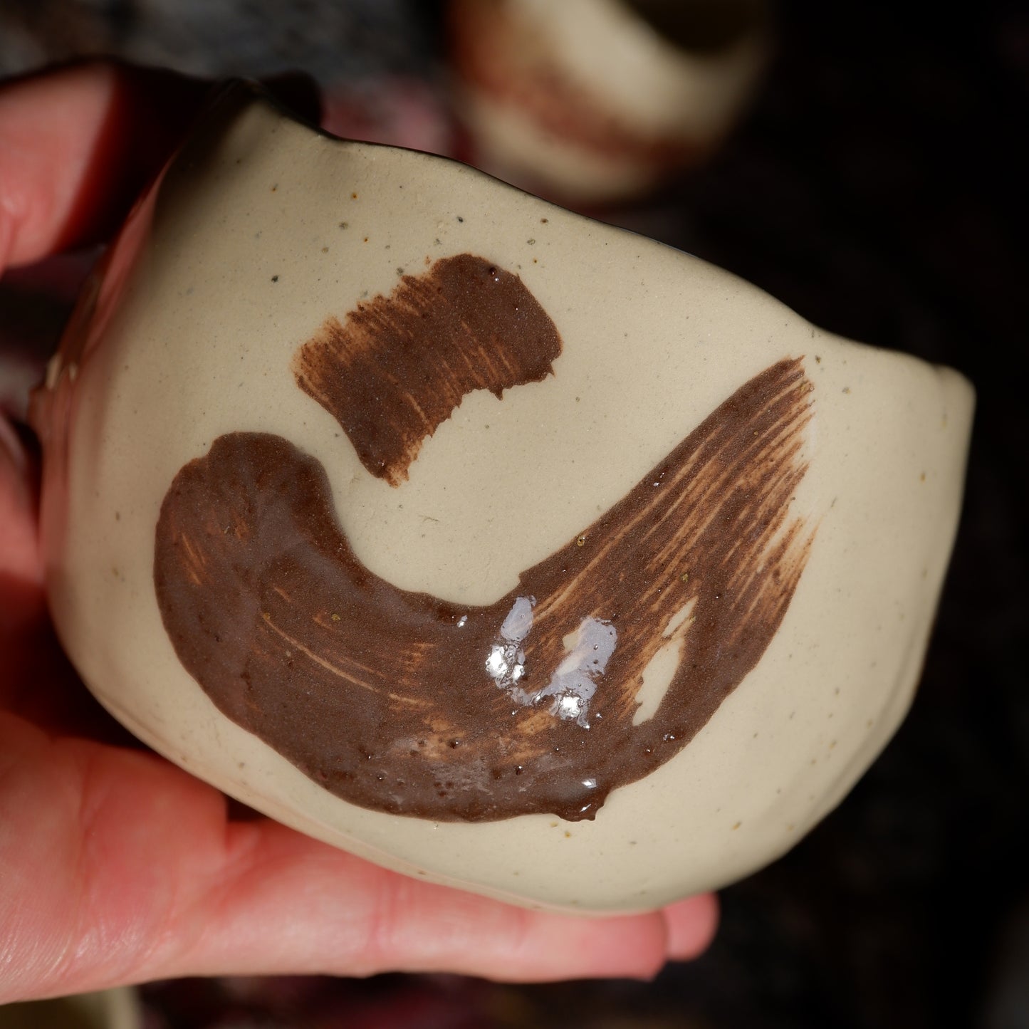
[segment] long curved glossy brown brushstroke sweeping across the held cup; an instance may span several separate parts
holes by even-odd
[[[789,517],[810,389],[800,360],[751,379],[484,607],[374,575],[316,460],[276,436],[221,436],[162,506],[165,626],[229,718],[353,804],[440,821],[592,818],[610,790],[678,753],[775,635],[811,542]],[[513,644],[526,675],[498,681],[487,663],[530,597],[531,630]],[[560,697],[533,694],[584,619],[616,643],[602,674],[582,673],[596,687],[587,709],[565,718]],[[633,725],[640,677],[666,645],[681,648],[671,683]]]

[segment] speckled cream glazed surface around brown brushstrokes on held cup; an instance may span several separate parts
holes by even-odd
[[[466,396],[392,489],[290,360],[398,269],[468,250],[522,277],[564,352],[543,383]],[[960,506],[972,393],[953,371],[826,334],[703,261],[469,168],[326,138],[245,88],[172,165],[97,344],[74,376],[50,376],[73,405],[67,500],[49,456],[44,485],[61,638],[141,739],[303,831],[521,903],[654,908],[787,850],[908,708]],[[350,806],[224,718],[169,643],[154,526],[175,473],[221,433],[274,432],[317,457],[379,575],[485,604],[747,379],[797,355],[815,417],[791,509],[817,535],[792,604],[696,739],[595,821],[435,824]]]

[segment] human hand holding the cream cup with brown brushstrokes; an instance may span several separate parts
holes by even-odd
[[[205,92],[106,64],[0,85],[0,268],[106,238]],[[646,977],[706,947],[711,896],[593,920],[531,912],[232,817],[131,741],[61,654],[34,463],[0,420],[0,1003],[186,974]]]

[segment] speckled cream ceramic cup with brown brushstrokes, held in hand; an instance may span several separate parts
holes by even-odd
[[[222,91],[35,397],[54,619],[140,739],[313,837],[641,911],[911,702],[972,391],[691,256]]]

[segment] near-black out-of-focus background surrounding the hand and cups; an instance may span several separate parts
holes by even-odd
[[[1029,1027],[1029,11],[774,9],[773,63],[722,150],[608,216],[826,329],[974,383],[964,516],[907,722],[807,840],[723,891],[710,952],[652,985],[193,981],[145,988],[153,1027]],[[329,86],[400,73],[439,87],[437,15],[417,0],[2,0],[0,71],[106,51],[205,74],[292,67]]]

